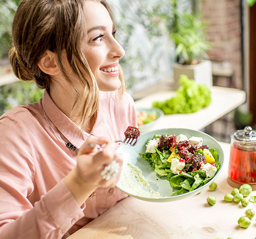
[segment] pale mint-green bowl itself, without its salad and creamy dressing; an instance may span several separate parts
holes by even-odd
[[[169,181],[164,177],[157,176],[155,171],[150,167],[149,162],[145,161],[139,156],[139,153],[145,153],[146,141],[157,134],[159,135],[174,134],[176,136],[183,134],[183,135],[186,135],[188,138],[192,136],[202,137],[203,145],[207,145],[208,148],[215,148],[217,150],[218,161],[220,163],[220,168],[218,172],[216,172],[214,177],[202,187],[199,187],[191,192],[187,192],[184,194],[171,197],[171,194],[176,190],[172,189]],[[128,145],[122,145],[117,149],[117,153],[123,156],[123,159],[125,161],[124,164],[128,161],[130,164],[138,166],[142,170],[142,174],[147,180],[147,182],[149,183],[149,185],[152,187],[153,190],[159,192],[161,197],[159,198],[143,197],[141,195],[138,195],[138,193],[136,193],[132,188],[127,187],[125,183],[122,183],[122,180],[119,180],[119,182],[117,183],[117,187],[132,197],[136,197],[145,201],[153,201],[153,202],[175,201],[181,198],[190,197],[192,195],[195,195],[201,192],[205,187],[208,187],[216,179],[216,177],[219,176],[224,166],[224,153],[221,145],[219,145],[219,143],[212,136],[207,135],[201,131],[192,130],[192,129],[168,128],[168,129],[159,129],[159,130],[153,130],[146,133],[142,133],[140,135],[139,142],[137,143],[136,146],[132,147]]]

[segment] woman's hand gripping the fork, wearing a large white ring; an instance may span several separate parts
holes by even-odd
[[[101,145],[100,149],[88,145]],[[80,147],[77,164],[64,178],[64,181],[80,205],[97,187],[113,187],[121,175],[122,158],[116,153],[117,145],[104,137],[90,136]],[[120,164],[117,177],[103,179],[101,172],[113,160]]]

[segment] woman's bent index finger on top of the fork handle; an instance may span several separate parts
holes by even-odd
[[[91,135],[88,137],[85,143],[80,147],[78,151],[78,155],[96,153],[98,149],[88,145],[105,145],[108,142],[109,142],[109,139],[105,137],[97,137],[97,136]]]

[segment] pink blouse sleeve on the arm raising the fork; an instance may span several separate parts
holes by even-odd
[[[28,197],[36,172],[28,134],[14,116],[2,116],[0,136],[0,238],[61,238],[84,208],[64,180],[32,205]]]

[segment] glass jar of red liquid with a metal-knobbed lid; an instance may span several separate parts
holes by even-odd
[[[250,126],[231,135],[228,177],[239,184],[256,184],[256,131]]]

